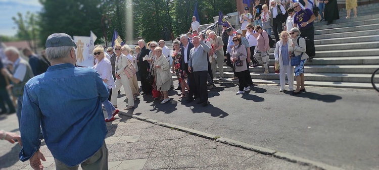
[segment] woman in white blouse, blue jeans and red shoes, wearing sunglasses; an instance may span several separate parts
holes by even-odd
[[[104,83],[107,84],[108,92],[110,92],[111,89],[115,86],[115,81],[112,76],[111,61],[105,58],[103,47],[94,48],[93,56],[98,60],[96,65],[93,66],[93,69],[98,71]],[[118,114],[119,110],[116,109],[109,100],[103,101],[103,105],[108,114],[108,118],[105,119],[105,122],[114,121],[115,120],[114,116]]]

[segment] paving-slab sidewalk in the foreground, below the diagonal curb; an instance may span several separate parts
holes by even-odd
[[[2,117],[2,128],[15,114]],[[8,124],[11,125],[11,124]],[[318,169],[230,146],[151,123],[116,116],[107,123],[109,169]],[[10,129],[8,129],[10,130]],[[0,141],[0,169],[32,169],[18,161],[18,145]],[[42,142],[44,169],[55,169],[54,158]],[[4,153],[4,154],[3,154]]]

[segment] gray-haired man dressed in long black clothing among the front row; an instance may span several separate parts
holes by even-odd
[[[149,76],[148,70],[150,69],[149,62],[143,60],[145,55],[149,55],[149,49],[146,49],[145,40],[143,39],[138,41],[138,46],[141,48],[137,65],[141,76],[142,91],[144,91],[142,94],[152,94],[153,86],[147,80]]]

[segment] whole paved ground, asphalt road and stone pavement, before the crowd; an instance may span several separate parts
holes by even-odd
[[[307,93],[291,96],[288,94],[289,92],[278,92],[279,87],[277,86],[261,84],[243,95],[235,95],[238,88],[234,84],[223,83],[216,84],[216,86],[209,92],[210,104],[206,107],[197,105],[196,101],[181,102],[181,99],[178,99],[178,91],[171,90],[172,100],[169,103],[162,105],[159,103],[160,101],[153,100],[151,96],[140,96],[136,101],[136,108],[124,112],[123,115],[134,114],[137,117],[146,117],[209,133],[221,137],[220,139],[242,141],[246,144],[272,149],[277,153],[313,160],[316,161],[316,164],[318,161],[344,169],[379,169],[379,163],[377,163],[379,162],[377,154],[379,153],[377,143],[379,141],[377,124],[379,121],[377,115],[379,94],[373,90],[307,87]],[[122,109],[127,99],[123,92],[119,97],[118,105],[119,109]],[[130,165],[131,160],[140,161],[136,163],[140,165],[136,169],[149,169],[151,167],[148,163],[149,159],[157,157],[154,150],[170,147],[171,150],[166,149],[166,152],[159,152],[165,159],[160,157],[160,160],[153,164],[161,165],[154,168],[315,168],[257,154],[257,152],[195,137],[154,124],[134,119],[129,120],[130,117],[120,116],[120,118],[112,124],[109,123],[110,134],[107,138],[110,165],[114,163],[119,169],[125,167],[123,163]],[[17,125],[14,115],[0,117],[0,121],[0,129],[18,130],[14,125],[7,126],[12,122]],[[152,132],[153,129],[156,129],[155,132]],[[154,138],[153,136],[155,139],[146,139]],[[197,148],[187,148],[186,151],[178,150],[178,148],[190,147],[183,146],[182,143],[186,143],[182,141],[184,139],[193,143],[191,147]],[[133,142],[133,140],[135,141]],[[175,145],[172,143],[166,146],[159,145],[159,141],[162,140],[166,142],[176,140],[176,146],[172,146]],[[197,144],[196,141],[208,142]],[[113,144],[109,142],[113,142]],[[120,142],[120,144],[116,142]],[[133,145],[138,142],[143,143]],[[208,145],[212,145],[212,147],[208,148]],[[113,146],[116,146],[119,153],[114,154]],[[207,150],[202,151],[202,146]],[[126,150],[120,151],[120,147]],[[236,152],[226,151],[220,157],[219,153],[222,152],[217,151],[220,148],[233,148],[232,150]],[[13,167],[24,168],[27,165],[20,163],[17,159],[20,149],[18,146],[0,141],[0,149],[0,153],[2,153],[0,167],[14,169]],[[215,153],[213,155],[215,157],[202,156],[207,151],[210,151],[209,154]],[[248,153],[245,154],[245,152]],[[181,156],[180,159],[177,159],[177,156]],[[234,161],[237,159],[230,156],[237,156],[239,159]],[[254,160],[255,158],[258,159]],[[144,159],[147,159],[146,162]],[[185,161],[180,163],[178,162],[180,160]],[[46,165],[54,166],[54,163]]]

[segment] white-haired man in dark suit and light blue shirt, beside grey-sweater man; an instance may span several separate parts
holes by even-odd
[[[188,75],[187,83],[189,87],[189,92],[187,101],[191,102],[194,101],[194,95],[197,97],[194,74],[188,72],[189,51],[194,47],[194,44],[188,42],[188,36],[186,34],[180,36],[180,41],[183,44],[180,47],[180,52],[182,53],[183,58],[181,60],[180,67]]]

